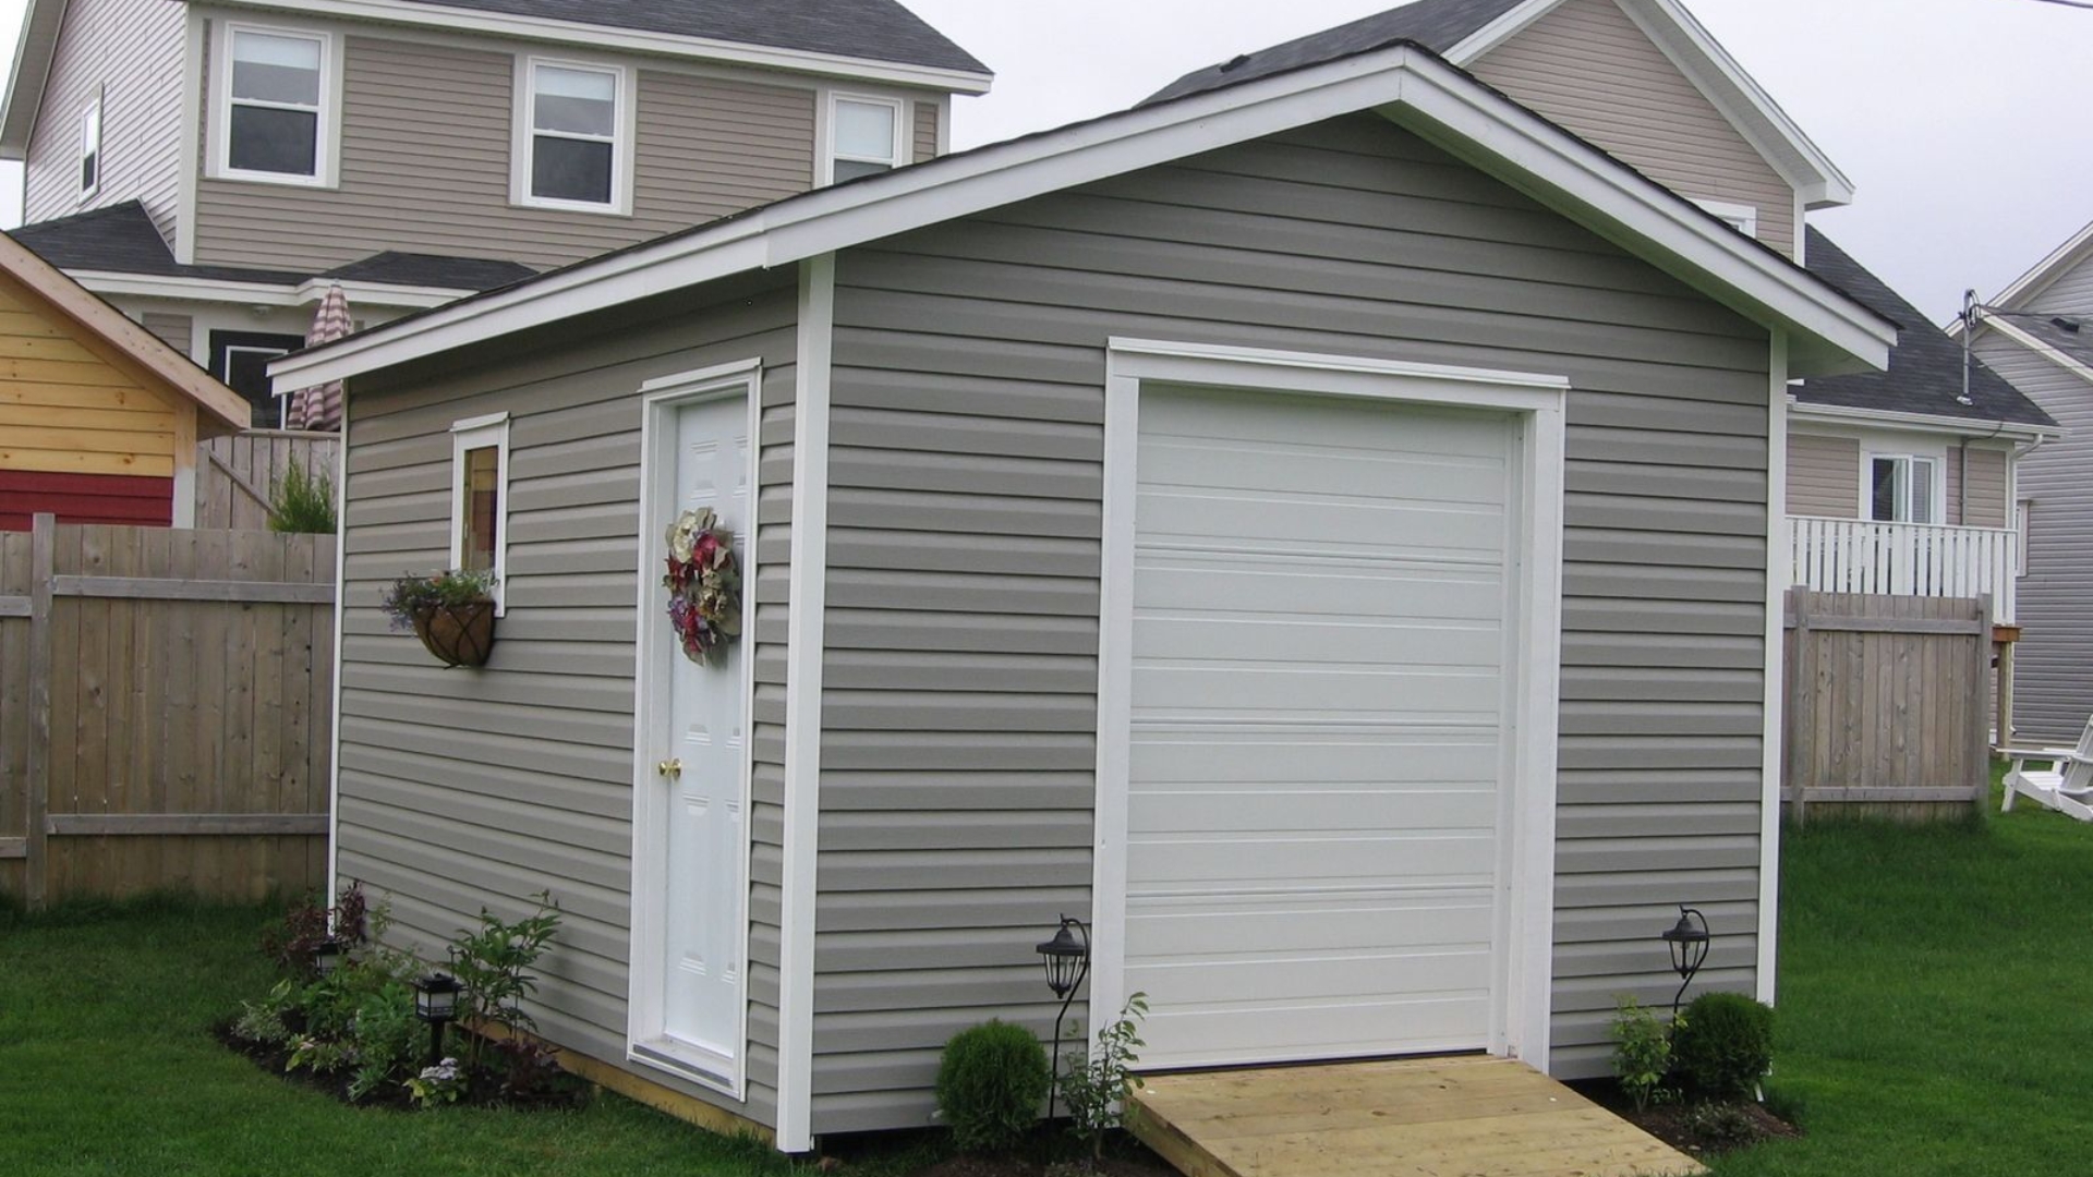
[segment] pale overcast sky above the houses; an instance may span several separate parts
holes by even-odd
[[[1390,0],[904,0],[996,71],[954,145],[1084,119]],[[1936,320],[2093,220],[2093,10],[2043,0],[1687,0],[1852,178],[1810,222]],[[0,0],[0,27],[23,0]],[[13,34],[0,63],[13,59]],[[0,222],[21,178],[0,165]]]

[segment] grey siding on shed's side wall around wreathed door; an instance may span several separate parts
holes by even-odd
[[[764,360],[760,511],[789,492],[797,291],[720,291],[578,329],[565,352],[481,354],[471,375],[400,373],[350,396],[347,612],[341,679],[341,871],[393,901],[404,947],[431,951],[481,905],[563,911],[534,1014],[546,1035],[626,1066],[632,888],[632,599],[638,576],[638,385]],[[377,609],[402,570],[450,542],[450,423],[511,413],[509,614],[481,672],[444,672]],[[751,578],[785,572],[789,521],[762,517]],[[749,888],[747,1104],[777,1116],[783,595],[760,595],[751,653],[756,804]]]

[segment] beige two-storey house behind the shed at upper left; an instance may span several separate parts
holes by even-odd
[[[896,0],[31,0],[19,237],[274,425],[262,364],[938,155],[988,71]]]

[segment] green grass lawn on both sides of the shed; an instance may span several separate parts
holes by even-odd
[[[1808,1135],[1729,1156],[1720,1177],[2093,1173],[2093,825],[2032,806],[1963,827],[1813,825],[1787,834],[1781,886],[1773,1089]],[[795,1173],[615,1095],[398,1114],[264,1074],[209,1024],[268,989],[266,921],[0,913],[0,1173]]]

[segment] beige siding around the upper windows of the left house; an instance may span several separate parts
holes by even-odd
[[[406,249],[550,268],[814,182],[812,88],[638,69],[632,216],[517,207],[515,54],[352,36],[345,57],[339,188],[199,180],[197,262],[318,270]]]

